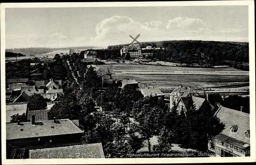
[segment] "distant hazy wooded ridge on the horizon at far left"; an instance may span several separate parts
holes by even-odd
[[[14,49],[5,49],[6,52],[16,52],[22,53],[26,56],[42,54],[47,52],[52,52],[51,48],[47,47],[29,47],[29,48],[14,48]]]

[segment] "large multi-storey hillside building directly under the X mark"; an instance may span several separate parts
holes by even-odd
[[[130,55],[131,58],[141,57],[141,49],[139,44],[130,44],[129,46],[124,46],[120,50],[121,57],[126,57]]]

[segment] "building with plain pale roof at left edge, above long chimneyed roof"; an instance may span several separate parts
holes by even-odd
[[[27,115],[28,102],[15,102],[6,103],[6,123],[11,122],[11,116],[13,115]]]

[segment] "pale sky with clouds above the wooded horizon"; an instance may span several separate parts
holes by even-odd
[[[6,8],[6,48],[248,42],[248,6]]]

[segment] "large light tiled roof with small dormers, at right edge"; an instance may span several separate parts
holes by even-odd
[[[250,116],[247,113],[226,108],[220,105],[215,114],[221,122],[225,124],[222,134],[232,137],[233,139],[250,144],[250,139],[245,137],[244,132],[250,130]],[[231,132],[230,127],[237,125],[237,132]]]

